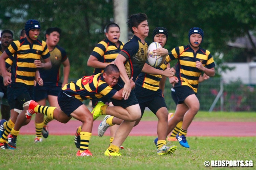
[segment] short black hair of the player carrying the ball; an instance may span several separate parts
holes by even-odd
[[[138,13],[130,15],[126,23],[131,32],[134,33],[132,27],[138,28],[139,24],[145,20],[147,20],[147,15],[144,13]]]

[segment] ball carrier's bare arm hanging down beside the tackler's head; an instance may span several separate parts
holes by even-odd
[[[122,97],[126,100],[130,96],[131,83],[126,73],[124,62],[126,62],[125,56],[123,56],[122,54],[118,54],[114,61],[114,64],[118,67],[120,72],[120,77],[125,83]]]

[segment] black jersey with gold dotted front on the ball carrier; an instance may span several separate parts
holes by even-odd
[[[126,62],[124,63],[125,69],[129,79],[133,77],[134,82],[147,60],[148,45],[149,43],[147,41],[143,44],[139,37],[133,35],[133,37],[124,45],[123,50],[119,53],[126,58]],[[120,87],[123,87],[124,81],[119,78],[117,84]]]

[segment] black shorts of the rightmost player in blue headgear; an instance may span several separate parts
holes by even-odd
[[[197,95],[197,93],[189,86],[175,86],[174,90],[178,98],[177,104],[184,103],[184,100],[190,95]]]

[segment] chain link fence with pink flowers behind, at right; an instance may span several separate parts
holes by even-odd
[[[256,112],[255,85],[243,84],[241,79],[223,80],[210,78],[199,83],[197,97],[201,111]],[[247,81],[248,82],[248,81]],[[171,98],[171,84],[165,85],[165,101],[168,109],[175,109]]]

